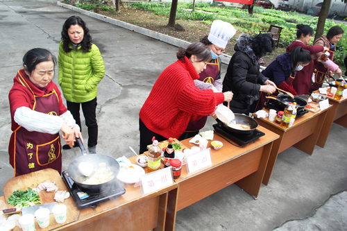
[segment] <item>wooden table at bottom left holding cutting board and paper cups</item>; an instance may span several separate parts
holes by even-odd
[[[136,157],[130,158],[135,163]],[[146,171],[146,169],[145,169]],[[126,193],[105,201],[95,208],[80,209],[77,221],[56,230],[163,230],[167,215],[169,191],[178,184],[142,196],[140,187],[124,185]],[[0,200],[5,200],[0,197]],[[174,223],[171,221],[170,223]]]

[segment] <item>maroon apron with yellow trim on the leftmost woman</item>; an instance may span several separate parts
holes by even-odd
[[[19,77],[24,87],[30,89],[26,80]],[[31,91],[32,92],[32,91]],[[53,92],[44,96],[35,96],[32,110],[58,116],[58,95]],[[61,144],[59,132],[52,135],[43,132],[29,132],[19,126],[11,136],[9,148],[10,164],[15,169],[15,176],[38,171],[41,169],[56,169],[60,174],[62,171]]]

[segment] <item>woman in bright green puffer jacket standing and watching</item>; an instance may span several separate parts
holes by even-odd
[[[69,17],[62,26],[62,42],[58,55],[59,80],[69,110],[80,128],[80,105],[88,128],[88,150],[96,153],[98,124],[96,123],[97,85],[105,75],[103,58],[85,22],[78,16]],[[78,145],[77,145],[78,146]],[[69,149],[67,145],[63,149]]]

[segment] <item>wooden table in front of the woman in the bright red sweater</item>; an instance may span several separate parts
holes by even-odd
[[[212,166],[190,174],[187,173],[187,166],[183,166],[182,174],[176,180],[178,188],[169,191],[168,207],[176,209],[168,212],[165,230],[174,230],[175,225],[171,222],[175,221],[177,211],[233,183],[257,198],[271,146],[273,146],[273,141],[279,138],[266,128],[257,129],[264,132],[265,135],[250,142],[244,148],[233,146],[226,139],[214,133],[213,139],[222,142],[223,147],[215,151],[209,142],[208,148],[212,149]],[[182,143],[188,148],[196,146],[188,141],[189,139],[186,139]]]

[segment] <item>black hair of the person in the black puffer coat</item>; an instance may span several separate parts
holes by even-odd
[[[274,46],[275,41],[273,41],[269,34],[260,34],[253,37],[251,44],[252,50],[257,58],[262,58],[266,53],[271,53]]]

